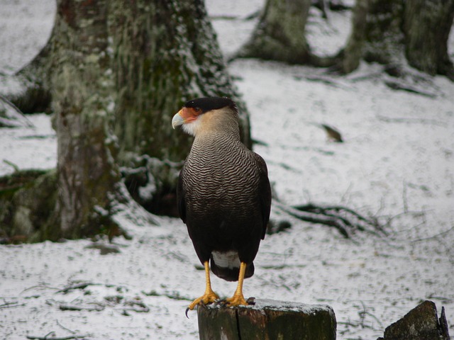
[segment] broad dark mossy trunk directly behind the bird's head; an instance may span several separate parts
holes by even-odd
[[[184,159],[192,143],[170,125],[179,107],[199,96],[238,98],[203,1],[112,1],[109,18],[121,162],[131,154]],[[250,146],[241,108],[243,140]]]

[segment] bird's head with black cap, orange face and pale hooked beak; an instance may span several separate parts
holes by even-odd
[[[196,136],[200,132],[226,130],[238,131],[238,108],[227,97],[204,97],[187,101],[172,118],[172,128],[182,126],[184,132]],[[238,132],[239,133],[239,132]]]

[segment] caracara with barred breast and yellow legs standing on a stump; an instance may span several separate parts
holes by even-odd
[[[196,98],[172,118],[172,128],[194,136],[179,173],[177,207],[205,270],[205,292],[187,307],[222,302],[248,305],[243,281],[254,274],[254,259],[270,219],[267,165],[240,140],[238,108],[227,97]],[[211,272],[238,284],[220,300]]]

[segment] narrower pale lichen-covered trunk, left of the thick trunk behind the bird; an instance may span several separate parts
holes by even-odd
[[[57,130],[55,217],[62,237],[114,226],[106,216],[119,180],[106,120],[114,101],[106,27],[106,1],[57,3],[50,82]]]

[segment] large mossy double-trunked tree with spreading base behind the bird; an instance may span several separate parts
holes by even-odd
[[[54,208],[37,222],[35,205],[18,218],[23,207],[11,200],[36,186],[8,189],[13,204],[0,211],[0,234],[6,236],[14,230],[33,240],[110,233],[118,227],[112,200],[124,199],[120,166],[145,169],[143,186],[172,191],[191,143],[172,131],[170,121],[189,98],[238,101],[243,141],[251,145],[248,113],[201,0],[58,0],[48,45],[19,74],[52,94],[57,171],[47,176],[56,193],[46,196]],[[126,170],[129,183],[138,172]],[[27,220],[28,227],[12,227],[12,220]]]

